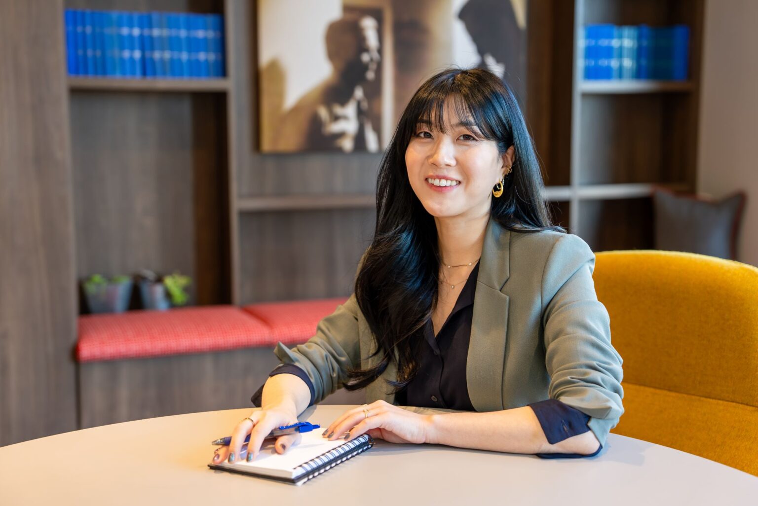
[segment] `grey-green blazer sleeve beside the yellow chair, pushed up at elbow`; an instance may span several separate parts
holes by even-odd
[[[542,323],[550,398],[587,414],[587,426],[605,446],[624,413],[623,371],[608,311],[597,300],[594,268],[595,255],[581,238],[565,234],[555,242],[542,277]]]

